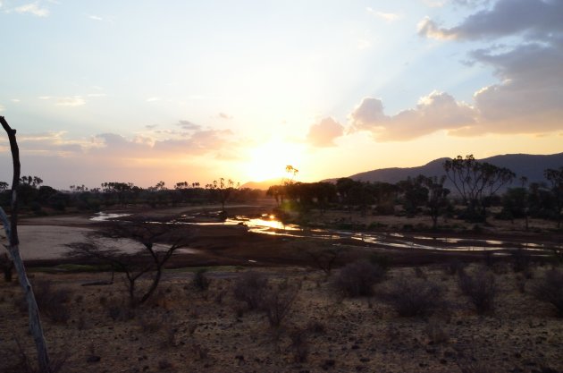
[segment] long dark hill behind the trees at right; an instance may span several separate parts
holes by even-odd
[[[351,179],[362,181],[362,182],[399,182],[410,177],[416,177],[419,174],[424,174],[425,176],[441,176],[445,174],[443,169],[443,163],[446,159],[450,158],[438,158],[434,159],[432,162],[426,165],[420,165],[417,167],[406,167],[406,168],[381,168],[373,171],[367,171],[365,173],[353,174],[348,176]],[[531,154],[507,154],[504,156],[494,156],[483,159],[478,159],[480,162],[488,162],[492,165],[497,165],[499,167],[507,167],[517,174],[517,179],[521,176],[526,176],[528,182],[543,182],[545,178],[543,177],[543,170],[546,168],[559,168],[563,166],[563,153],[552,154],[548,156],[538,156]],[[338,179],[327,179],[325,182],[335,182]],[[519,182],[515,181],[513,186],[519,185]],[[449,182],[446,182],[448,188],[452,188]]]

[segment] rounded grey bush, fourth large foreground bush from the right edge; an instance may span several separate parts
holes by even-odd
[[[382,282],[385,270],[365,261],[349,263],[340,270],[335,287],[349,297],[374,294],[374,284]]]

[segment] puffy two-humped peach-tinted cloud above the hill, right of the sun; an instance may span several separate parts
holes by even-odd
[[[366,97],[349,114],[350,131],[369,131],[375,140],[413,140],[440,130],[463,128],[475,123],[475,109],[447,93],[421,97],[416,108],[396,115],[383,111],[382,101]]]

